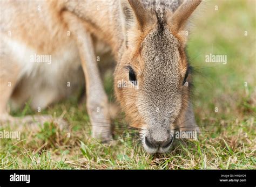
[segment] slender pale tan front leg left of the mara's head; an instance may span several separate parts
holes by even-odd
[[[102,142],[108,142],[112,140],[109,103],[100,78],[91,34],[86,31],[83,20],[76,15],[68,12],[65,17],[71,33],[76,37],[85,75],[86,107],[92,125],[92,136]]]

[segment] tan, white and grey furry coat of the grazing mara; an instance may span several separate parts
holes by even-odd
[[[187,19],[200,1],[182,3],[179,0],[173,3],[164,0],[2,3],[3,45],[8,45],[9,42],[10,45],[16,45],[13,43],[16,41],[28,48],[26,53],[33,50],[38,54],[50,54],[55,59],[59,58],[54,62],[56,72],[45,75],[53,68],[32,64],[35,67],[31,70],[30,66],[20,62],[22,60],[12,60],[12,49],[2,46],[4,52],[1,60],[4,60],[4,64],[1,67],[6,70],[6,73],[0,74],[3,83],[0,90],[5,92],[3,100],[12,96],[16,103],[22,104],[33,97],[35,108],[42,104],[42,99],[45,107],[70,95],[77,85],[83,83],[81,78],[84,75],[86,105],[93,126],[93,136],[102,138],[103,141],[110,140],[107,96],[96,62],[96,54],[103,53],[102,49],[98,51],[96,48],[100,42],[104,46],[110,46],[117,61],[114,91],[127,120],[131,126],[143,129],[143,139],[147,136],[153,144],[160,143],[163,147],[170,141],[170,130],[174,126],[193,124],[196,128],[189,101],[190,87],[183,86],[188,67],[184,29]],[[36,9],[37,5],[40,5],[41,12]],[[12,32],[10,38],[6,35],[8,31]],[[69,37],[67,32],[71,32]],[[104,51],[106,52],[107,50]],[[62,59],[60,56],[65,54],[68,57]],[[22,59],[23,56],[20,56]],[[62,60],[64,62],[59,62]],[[16,70],[8,69],[8,62],[17,67]],[[129,82],[130,70],[127,66],[136,73],[139,89],[117,88],[118,81]],[[83,68],[83,75],[80,67]],[[27,73],[28,69],[31,72]],[[26,73],[23,73],[25,70]],[[50,81],[48,78],[51,76],[55,78]],[[74,85],[70,90],[63,86],[69,80]],[[9,91],[5,88],[8,81],[14,84]],[[187,81],[191,81],[190,75]],[[37,93],[32,94],[33,91]],[[6,109],[6,102],[3,100],[0,103],[1,113]],[[100,109],[100,113],[96,112],[96,108]],[[184,124],[188,116],[192,116],[192,119]],[[99,124],[103,127],[99,127]],[[161,138],[164,140],[159,140]],[[152,153],[167,150],[161,146],[151,150],[144,144],[146,150]]]

